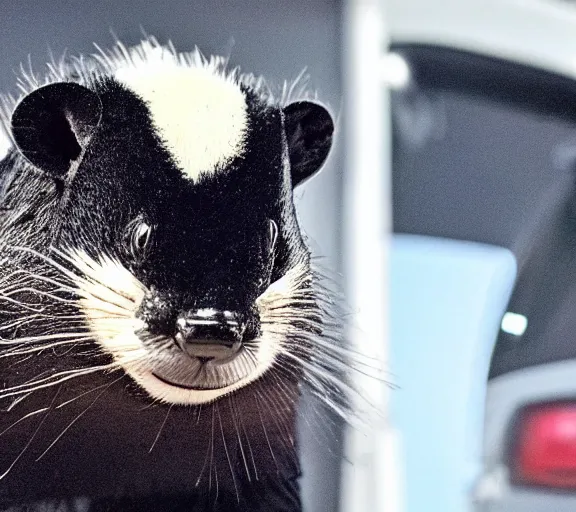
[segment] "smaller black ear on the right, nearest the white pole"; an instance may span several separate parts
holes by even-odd
[[[284,127],[295,187],[322,167],[332,146],[334,122],[322,105],[297,101],[284,107]]]

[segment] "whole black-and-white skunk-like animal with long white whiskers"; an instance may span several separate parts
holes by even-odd
[[[332,116],[154,38],[19,85],[0,114],[0,506],[300,510],[300,385],[337,411],[348,386],[293,203]]]

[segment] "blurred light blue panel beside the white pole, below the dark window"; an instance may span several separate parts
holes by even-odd
[[[396,235],[391,251],[391,421],[406,512],[466,512],[480,469],[490,356],[516,277],[500,247]]]

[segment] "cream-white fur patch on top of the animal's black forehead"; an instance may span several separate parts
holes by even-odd
[[[241,156],[246,97],[209,65],[193,66],[156,47],[131,55],[115,78],[142,98],[160,138],[185,175],[196,179]]]

